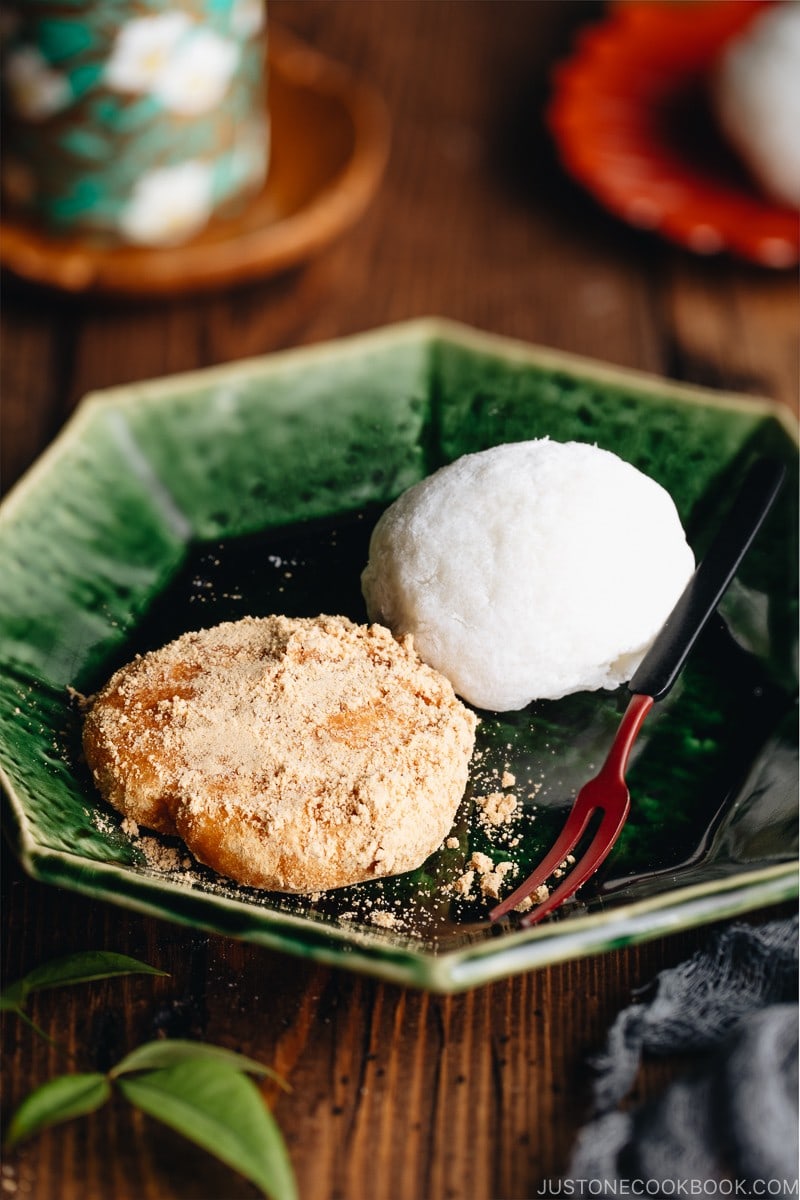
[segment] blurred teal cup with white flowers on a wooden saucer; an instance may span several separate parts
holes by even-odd
[[[10,209],[170,246],[264,182],[264,0],[18,0],[2,32]]]

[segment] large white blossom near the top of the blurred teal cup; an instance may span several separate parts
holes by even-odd
[[[155,96],[172,113],[211,112],[239,64],[239,47],[185,13],[140,17],[119,31],[106,67],[116,91]]]

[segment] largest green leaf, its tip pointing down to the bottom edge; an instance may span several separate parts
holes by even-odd
[[[193,1058],[118,1080],[137,1108],[210,1151],[272,1200],[296,1200],[281,1132],[247,1075],[227,1062]]]

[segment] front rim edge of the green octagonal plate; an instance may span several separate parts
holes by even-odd
[[[8,782],[0,767],[0,784],[11,799]],[[320,922],[319,929],[315,929],[308,916],[275,908],[259,907],[259,928],[236,934],[221,928],[223,923],[213,919],[198,920],[174,911],[167,916],[157,900],[149,902],[148,893],[152,892],[158,896],[167,888],[170,895],[182,895],[203,911],[207,910],[211,916],[219,907],[233,914],[252,914],[253,906],[245,900],[194,890],[168,876],[139,874],[125,864],[98,863],[68,851],[38,851],[40,847],[34,844],[31,853],[23,856],[18,852],[22,865],[37,882],[68,887],[95,901],[113,902],[167,923],[201,928],[218,937],[231,937],[266,949],[290,953],[339,970],[345,965],[342,955],[347,953],[348,970],[438,995],[467,991],[539,967],[652,941],[670,932],[778,904],[800,893],[800,860],[793,859],[660,893],[622,905],[610,913],[600,910],[585,916],[573,916],[564,929],[560,923],[519,929],[505,932],[501,942],[499,938],[485,938],[437,953],[426,949],[425,942],[420,943],[411,937],[404,940],[408,944],[398,943],[396,936],[390,943],[380,931],[355,923],[347,926]],[[49,864],[58,864],[56,871],[48,870]],[[97,889],[89,882],[89,877],[95,875],[115,881],[122,878],[126,881],[126,890],[115,892],[113,900],[107,892],[98,896]],[[307,934],[309,924],[315,935],[313,944],[290,936],[294,928]],[[317,938],[320,943],[338,944],[329,949],[324,944],[317,944]]]

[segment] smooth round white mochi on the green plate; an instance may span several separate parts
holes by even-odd
[[[378,521],[361,583],[371,620],[503,712],[630,679],[693,568],[660,484],[542,438],[409,488]]]

